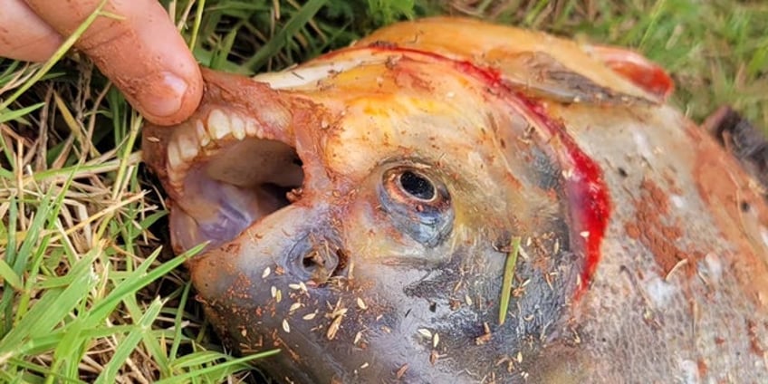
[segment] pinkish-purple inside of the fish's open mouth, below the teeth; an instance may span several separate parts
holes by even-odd
[[[302,182],[302,162],[287,144],[256,138],[231,143],[187,172],[180,209],[171,213],[174,243],[184,250],[222,245],[288,206],[286,194]]]

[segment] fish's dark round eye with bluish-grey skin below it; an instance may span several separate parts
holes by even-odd
[[[430,175],[428,168],[386,170],[379,203],[395,227],[422,245],[439,245],[453,229],[454,211],[447,187]]]

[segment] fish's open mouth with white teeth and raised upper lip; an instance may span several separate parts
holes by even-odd
[[[160,176],[174,205],[170,228],[177,252],[203,243],[206,249],[226,244],[298,201],[304,183],[303,161],[290,130],[292,118],[281,98],[250,79],[207,71],[204,75],[214,89],[207,98],[220,101],[204,100],[191,119],[175,128],[145,130],[145,148],[166,144],[149,162],[154,160],[154,168],[163,170]],[[258,99],[264,103],[241,98],[246,97],[238,94],[243,89],[261,93]],[[233,104],[228,100],[232,98],[243,102]]]

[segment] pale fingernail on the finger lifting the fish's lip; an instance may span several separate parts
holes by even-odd
[[[186,91],[187,82],[173,73],[162,72],[157,82],[150,82],[139,91],[137,99],[146,113],[162,118],[178,112]]]

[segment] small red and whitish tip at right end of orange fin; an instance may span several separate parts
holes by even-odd
[[[667,72],[639,53],[607,45],[592,45],[590,51],[613,72],[619,73],[660,101],[667,101],[672,91],[675,91],[675,82]]]

